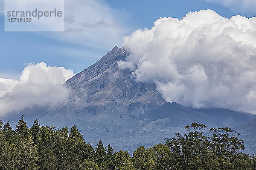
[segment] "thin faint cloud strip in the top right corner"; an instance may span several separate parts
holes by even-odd
[[[204,0],[208,3],[219,3],[232,11],[256,12],[256,0]]]

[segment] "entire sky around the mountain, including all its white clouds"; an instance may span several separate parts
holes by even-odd
[[[4,31],[3,7],[1,0],[0,110],[4,113],[14,111],[14,105],[23,109],[64,102],[68,91],[61,88],[63,82],[115,45],[131,52],[126,62],[119,62],[120,69],[130,68],[137,81],[156,82],[167,101],[256,113],[255,107],[249,107],[256,102],[256,82],[251,78],[256,75],[256,23],[255,18],[247,19],[256,16],[255,0],[65,0],[63,32]],[[232,17],[236,15],[244,17]],[[215,51],[209,54],[211,48]],[[216,67],[210,67],[212,63]],[[175,74],[163,77],[171,72]],[[243,90],[233,93],[239,89]],[[56,92],[63,95],[47,95]],[[23,102],[24,95],[28,102]]]

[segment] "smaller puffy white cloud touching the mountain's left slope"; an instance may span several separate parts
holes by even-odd
[[[34,105],[67,102],[69,90],[63,84],[73,76],[72,70],[40,62],[26,66],[19,80],[0,78],[0,116]]]

